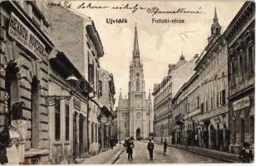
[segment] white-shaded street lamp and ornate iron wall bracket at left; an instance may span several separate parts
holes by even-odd
[[[66,81],[71,81],[71,82],[77,82],[78,79],[76,78],[76,76],[68,76],[66,78]],[[68,90],[68,88],[66,87],[62,87],[65,90]],[[48,106],[53,106],[56,105],[60,100],[71,100],[71,96],[74,95],[75,90],[68,90],[70,95],[45,95],[44,98],[47,100],[47,105]]]

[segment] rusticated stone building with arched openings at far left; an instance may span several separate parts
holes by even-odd
[[[21,136],[17,146],[1,143],[0,164],[48,163],[49,117],[43,95],[48,94],[53,44],[47,17],[45,1],[0,2],[0,132],[14,129]]]

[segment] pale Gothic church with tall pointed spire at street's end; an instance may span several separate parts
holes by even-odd
[[[153,110],[151,95],[146,98],[143,64],[140,61],[137,27],[132,61],[130,62],[130,81],[128,99],[123,98],[120,92],[118,106],[116,108],[117,138],[126,139],[133,136],[134,139],[149,138],[153,132]]]

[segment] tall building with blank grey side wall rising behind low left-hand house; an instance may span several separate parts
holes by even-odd
[[[58,50],[65,52],[70,61],[76,64],[77,70],[90,83],[93,90],[93,93],[89,94],[87,116],[81,116],[88,120],[85,127],[88,141],[83,144],[87,145],[89,154],[97,154],[99,150],[99,115],[101,115],[99,59],[104,55],[101,39],[96,31],[94,22],[86,15],[59,6],[52,6],[49,15],[49,19],[52,22],[52,39],[55,41],[55,46]],[[75,116],[74,120],[80,120],[80,114]],[[79,149],[77,147],[80,147],[80,144],[77,139],[74,149]],[[78,158],[81,155],[77,154],[76,156]]]

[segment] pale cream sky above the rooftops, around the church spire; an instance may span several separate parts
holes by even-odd
[[[111,72],[114,76],[116,104],[118,103],[120,89],[123,97],[128,92],[129,65],[132,60],[135,23],[138,30],[140,59],[144,64],[145,91],[146,96],[148,96],[148,91],[151,90],[152,92],[154,84],[160,83],[167,75],[168,65],[179,61],[182,50],[187,61],[190,61],[195,54],[204,51],[214,18],[214,7],[216,7],[219,24],[222,27],[222,32],[224,32],[244,4],[241,1],[84,2],[86,6],[91,3],[91,7],[120,7],[129,3],[130,7],[138,4],[139,7],[145,8],[158,7],[160,11],[186,8],[190,11],[202,12],[201,14],[159,13],[152,16],[151,13],[146,12],[146,9],[132,13],[131,10],[127,9],[77,8],[82,2],[71,2],[72,8],[91,17],[95,23],[105,52],[105,55],[100,59],[100,64],[102,68]],[[107,24],[107,18],[126,18],[128,23]],[[152,18],[184,19],[185,23],[152,23]],[[181,35],[181,38],[180,34],[185,32],[187,32],[187,37]]]

